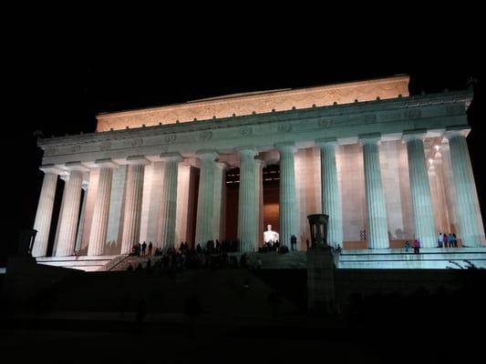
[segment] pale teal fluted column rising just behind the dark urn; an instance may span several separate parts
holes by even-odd
[[[343,246],[343,215],[336,171],[336,138],[317,139],[321,149],[322,211],[329,216],[327,244]]]

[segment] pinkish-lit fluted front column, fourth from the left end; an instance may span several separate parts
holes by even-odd
[[[143,177],[149,161],[145,157],[127,158],[129,165],[125,209],[123,214],[123,233],[121,236],[121,254],[131,253],[133,245],[140,243],[141,200],[143,195]]]

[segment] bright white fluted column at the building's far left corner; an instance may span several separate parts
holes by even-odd
[[[46,257],[49,230],[51,227],[54,198],[56,197],[58,169],[54,165],[40,167],[44,172],[39,204],[37,205],[34,228],[37,230],[36,240],[32,248],[32,257]]]

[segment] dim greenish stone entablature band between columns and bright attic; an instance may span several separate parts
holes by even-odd
[[[312,128],[418,120],[424,117],[428,107],[434,106],[443,106],[439,107],[438,116],[465,116],[466,106],[469,105],[471,98],[470,90],[397,97],[250,116],[222,117],[189,123],[144,126],[78,136],[43,138],[38,140],[38,146],[45,149],[45,157],[56,157],[82,153],[85,148],[90,148],[88,152],[110,152],[123,148],[143,147],[147,142],[150,142],[148,146],[152,147],[154,145],[167,147],[191,143],[193,140],[203,143],[217,140],[220,137],[219,134],[225,130],[231,131],[232,137],[242,139],[242,143],[244,143],[244,140],[250,140],[248,138],[254,136],[255,130],[260,126],[271,126],[275,129],[272,133],[290,135],[300,132],[301,129],[309,131]],[[244,144],[242,145],[244,146]],[[163,147],[160,152],[164,152]]]

